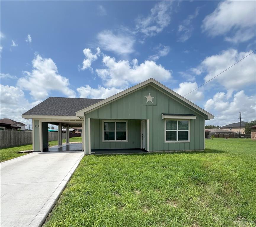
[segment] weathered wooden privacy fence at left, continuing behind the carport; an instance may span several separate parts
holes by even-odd
[[[48,132],[49,141],[58,140],[58,133]],[[62,133],[62,139],[66,139],[66,133]],[[32,144],[32,132],[29,131],[1,131],[0,148],[17,147]]]

